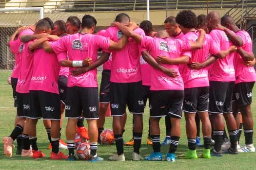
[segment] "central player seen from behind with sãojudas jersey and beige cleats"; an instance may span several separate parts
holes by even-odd
[[[121,13],[117,15],[115,21],[115,23],[128,26],[130,17],[127,14]],[[135,32],[145,35],[144,31],[140,28],[137,28]],[[123,34],[117,27],[110,27],[106,30],[105,36],[117,42]],[[139,155],[143,129],[142,114],[144,111],[139,57],[138,44],[132,39],[128,41],[124,49],[112,51],[110,103],[118,154],[110,156],[110,160],[125,160],[122,137],[122,128],[124,125],[122,119],[125,117],[126,105],[130,113],[133,114],[134,119],[134,151],[132,159],[143,159]]]

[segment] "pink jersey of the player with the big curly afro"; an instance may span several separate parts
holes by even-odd
[[[182,37],[182,39],[196,42],[199,35],[199,32],[188,32]],[[192,50],[191,52],[192,57],[190,59],[190,63],[203,63],[207,59],[209,52],[213,55],[216,55],[219,52],[219,49],[215,46],[211,35],[206,34],[203,41],[203,48],[198,50]],[[182,64],[180,65],[179,71],[184,81],[184,88],[209,86],[207,68],[193,70],[188,68],[187,64]]]

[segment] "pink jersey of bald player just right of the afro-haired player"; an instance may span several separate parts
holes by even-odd
[[[235,33],[234,33],[235,34]],[[219,50],[228,50],[233,44],[221,30],[212,30],[210,32],[212,39]],[[232,52],[223,59],[217,59],[210,70],[210,81],[233,82],[235,81],[235,69],[233,65],[235,53]]]

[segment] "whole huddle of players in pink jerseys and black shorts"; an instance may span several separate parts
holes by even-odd
[[[97,155],[98,136],[104,130],[109,102],[117,148],[110,160],[125,160],[126,107],[133,114],[133,138],[126,143],[134,147],[133,160],[163,160],[159,120],[165,117],[168,132],[163,144],[170,144],[165,160],[174,162],[182,111],[189,150],[180,157],[197,159],[197,119],[202,122],[204,141],[201,158],[255,152],[250,105],[256,60],[251,37],[232,17],[220,17],[215,11],[197,17],[184,10],[177,17],[166,18],[165,29],[157,33],[150,21],[138,26],[124,13],[118,14],[106,30],[96,33],[96,24],[90,15],[85,15],[81,23],[77,17],[69,17],[66,23],[43,18],[12,35],[9,46],[16,55],[16,69],[11,80],[17,118],[15,129],[3,139],[6,156],[12,156],[15,139],[17,154],[45,156],[38,149],[36,137],[36,124],[42,118],[52,148],[51,159],[76,160],[74,138],[78,132],[90,140],[90,161],[103,160]],[[99,50],[102,54],[98,58]],[[97,67],[102,64],[98,100]],[[147,99],[147,144],[153,145],[153,153],[143,158],[139,150]],[[60,140],[64,108],[68,155],[59,152],[66,147]],[[222,115],[230,137],[230,147],[224,151]],[[88,123],[88,135],[83,118]],[[243,147],[238,143],[241,124]]]

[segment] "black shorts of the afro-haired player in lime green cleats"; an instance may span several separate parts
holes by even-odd
[[[184,89],[183,112],[207,112],[209,108],[209,87]]]

